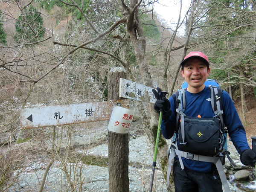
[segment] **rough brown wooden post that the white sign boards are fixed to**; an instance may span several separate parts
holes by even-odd
[[[119,99],[119,79],[126,79],[123,67],[113,67],[108,73],[108,100]],[[108,131],[108,191],[129,192],[129,134]]]

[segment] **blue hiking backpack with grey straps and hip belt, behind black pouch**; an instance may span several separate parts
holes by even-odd
[[[180,161],[181,169],[184,169],[184,165],[182,163],[181,157],[184,157],[186,159],[191,159],[191,160],[199,160],[199,161],[214,163],[217,167],[217,170],[218,170],[218,173],[221,178],[221,182],[224,186],[225,191],[230,192],[230,188],[227,183],[227,178],[224,173],[224,169],[222,167],[222,165],[224,165],[224,162],[225,162],[224,161],[225,155],[227,155],[228,159],[230,160],[230,162],[233,165],[235,165],[235,164],[229,157],[229,152],[227,151],[227,131],[224,131],[227,129],[224,129],[225,126],[224,126],[224,120],[223,120],[223,116],[222,116],[222,114],[223,114],[222,89],[219,87],[218,82],[215,80],[212,80],[212,79],[207,79],[207,81],[205,82],[205,85],[209,86],[210,94],[211,94],[212,110],[214,111],[214,114],[215,114],[215,116],[213,117],[213,119],[211,119],[211,121],[215,120],[214,119],[215,117],[220,119],[220,122],[221,122],[221,125],[220,125],[221,131],[220,132],[222,132],[224,134],[223,140],[221,140],[221,146],[219,148],[220,151],[218,151],[219,155],[214,155],[213,157],[210,157],[210,156],[205,156],[205,155],[201,155],[201,154],[193,154],[190,152],[181,151],[180,149],[178,149],[178,147],[176,145],[175,141],[177,138],[175,138],[175,137],[177,137],[177,133],[182,134],[182,137],[179,136],[180,137],[179,139],[181,140],[181,138],[183,138],[183,141],[184,141],[184,135],[185,135],[185,133],[184,133],[185,132],[184,131],[184,116],[186,116],[185,115],[185,110],[186,110],[185,88],[187,87],[187,83],[185,81],[182,84],[181,89],[172,95],[172,97],[175,101],[175,105],[176,105],[176,131],[175,131],[175,136],[174,136],[174,140],[171,144],[171,147],[168,149],[169,166],[168,166],[168,170],[167,170],[167,185],[169,186],[169,176],[171,174],[171,169],[172,169],[172,160],[174,157],[178,156],[178,160]],[[193,117],[189,117],[188,119],[191,121],[198,121],[197,119],[195,119]],[[182,130],[183,132],[180,131],[180,129],[183,129]],[[186,137],[187,136],[190,136],[190,135],[187,134]],[[199,135],[199,137],[200,137],[200,135]],[[183,144],[183,143],[181,143],[181,144]]]

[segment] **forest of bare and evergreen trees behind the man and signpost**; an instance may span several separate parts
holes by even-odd
[[[157,0],[1,0],[0,148],[45,137],[55,149],[50,158],[64,158],[57,155],[61,146],[55,140],[62,134],[72,140],[84,124],[21,130],[21,108],[106,101],[112,67],[123,67],[131,81],[173,93],[183,82],[179,63],[190,51],[209,57],[209,78],[230,94],[245,128],[253,130],[255,1],[192,0],[185,15],[182,1],[173,1],[180,10],[175,23],[154,11],[156,3],[160,5]],[[154,145],[158,115],[153,105],[134,105],[139,111],[135,119]],[[161,139],[163,172],[166,148]],[[9,173],[17,169],[15,159],[23,152],[6,155],[0,154],[0,188],[10,184]]]

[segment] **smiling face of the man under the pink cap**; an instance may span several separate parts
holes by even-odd
[[[199,93],[204,89],[204,82],[209,76],[210,69],[199,58],[191,58],[184,64],[182,77],[188,83],[187,90],[191,93]]]

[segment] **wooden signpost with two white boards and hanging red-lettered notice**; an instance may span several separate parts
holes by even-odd
[[[108,74],[108,101],[106,102],[21,109],[20,127],[29,129],[109,120],[112,118],[113,107],[118,105],[128,106],[128,99],[155,102],[156,99],[151,87],[124,78],[126,78],[126,72],[122,67],[111,69]],[[116,110],[117,115],[114,115],[113,118],[119,116],[119,108],[116,108]],[[133,118],[133,113],[131,113],[132,115],[129,113],[131,111],[122,113],[119,117],[121,120],[112,119],[113,121],[110,121],[113,124],[112,127],[108,126],[109,192],[129,192],[129,135],[126,129],[131,127]],[[121,127],[119,131],[115,131],[117,130],[116,125]]]

